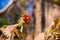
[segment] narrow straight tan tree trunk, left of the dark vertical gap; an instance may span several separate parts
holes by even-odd
[[[41,1],[40,0],[34,0],[35,10],[35,33],[34,37],[38,35],[41,32]]]

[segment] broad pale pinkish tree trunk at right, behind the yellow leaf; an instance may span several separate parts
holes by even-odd
[[[46,27],[45,30],[49,31],[52,21],[60,16],[60,8],[56,4],[46,3],[45,4],[45,19]]]

